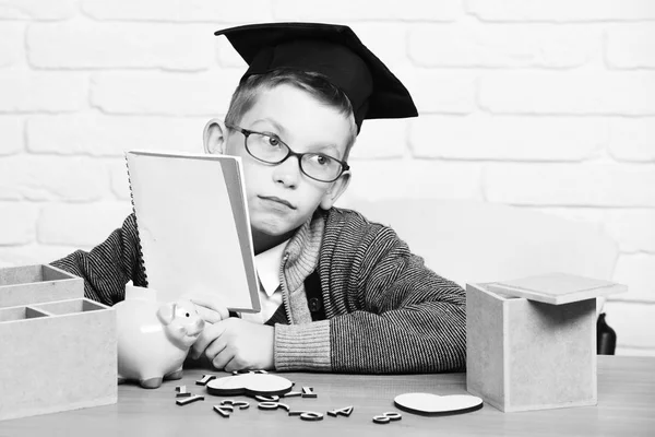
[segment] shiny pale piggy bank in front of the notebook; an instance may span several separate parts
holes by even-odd
[[[189,349],[204,321],[189,300],[157,303],[156,292],[126,287],[126,300],[114,306],[118,328],[118,383],[136,380],[155,389],[180,379]]]

